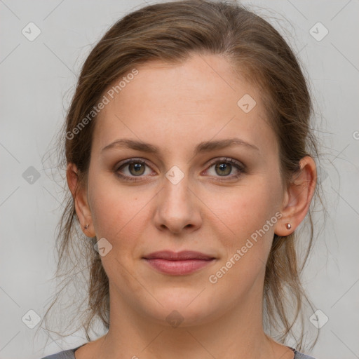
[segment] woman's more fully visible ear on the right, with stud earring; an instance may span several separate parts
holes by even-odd
[[[300,170],[292,177],[292,182],[285,190],[280,217],[274,228],[278,236],[288,236],[302,222],[309,210],[311,199],[316,189],[316,162],[311,156],[305,156],[299,161]],[[290,224],[291,228],[285,226]]]

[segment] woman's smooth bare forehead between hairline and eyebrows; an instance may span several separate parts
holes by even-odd
[[[121,137],[150,138],[169,151],[214,136],[273,142],[259,92],[223,57],[195,55],[175,65],[151,61],[136,69],[113,98],[107,96],[96,118],[95,150]]]

